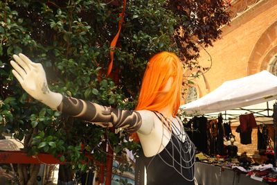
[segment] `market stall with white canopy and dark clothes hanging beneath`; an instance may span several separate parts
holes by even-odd
[[[240,176],[240,179],[244,179],[246,175],[249,175],[249,177],[246,177],[246,179],[244,179],[245,184],[253,184],[251,183],[253,179],[255,179],[254,182],[256,182],[256,184],[258,183],[258,181],[261,180],[264,182],[259,183],[265,184],[265,182],[267,182],[267,176],[270,176],[269,178],[274,177],[276,179],[276,168],[274,168],[273,166],[271,166],[272,168],[267,169],[267,173],[265,173],[265,171],[262,171],[262,173],[260,173],[260,171],[253,170],[253,165],[258,166],[258,164],[253,164],[251,161],[249,161],[247,165],[242,164],[242,157],[240,159],[240,156],[236,156],[238,148],[234,146],[233,143],[230,145],[230,139],[231,137],[233,137],[233,134],[230,132],[230,129],[227,129],[227,125],[225,125],[224,123],[224,121],[236,119],[236,121],[240,122],[240,130],[237,129],[238,132],[240,132],[240,135],[244,134],[244,136],[240,138],[242,144],[251,143],[252,128],[257,129],[257,121],[255,120],[255,118],[263,118],[261,119],[260,123],[264,123],[265,121],[271,121],[271,123],[274,122],[274,127],[276,127],[276,121],[273,121],[272,118],[272,114],[274,113],[273,107],[275,108],[276,106],[273,106],[274,101],[271,101],[275,100],[276,98],[277,77],[272,75],[268,71],[262,71],[260,73],[247,76],[245,78],[239,78],[236,80],[224,82],[220,87],[212,91],[210,94],[207,94],[206,96],[199,98],[198,100],[181,106],[181,109],[184,110],[186,116],[191,116],[191,119],[190,121],[188,121],[187,124],[188,130],[197,130],[197,132],[188,131],[189,136],[192,140],[194,140],[195,146],[197,146],[199,151],[204,152],[204,154],[211,155],[211,159],[215,160],[213,164],[210,163],[211,161],[208,161],[208,163],[206,164],[198,163],[196,165],[195,177],[198,181],[200,181],[200,184],[209,184],[208,182],[203,182],[205,181],[205,179],[213,179],[213,183],[210,184],[222,184],[222,181],[226,181],[226,179],[229,179],[227,181],[229,182],[229,184],[231,182],[233,182],[234,184],[235,181],[231,180],[231,177],[237,177],[235,175],[236,173],[232,170],[235,166],[242,167],[235,168],[235,170],[241,170],[240,173],[243,174],[242,176]],[[262,107],[262,109],[258,109],[256,105],[258,103],[260,103],[260,105],[263,103],[265,107]],[[260,105],[258,105],[258,107]],[[234,112],[235,110],[238,112]],[[211,118],[208,118],[208,116],[210,116]],[[268,119],[265,119],[265,117]],[[262,126],[264,126],[264,124],[262,124]],[[205,130],[209,130],[209,132],[207,133],[205,132]],[[265,125],[265,132],[266,131],[267,127]],[[246,132],[248,132],[248,134],[246,134]],[[258,132],[260,132],[259,125]],[[246,135],[247,137],[250,136],[249,139],[245,139]],[[275,134],[275,136],[276,135],[277,134]],[[228,150],[228,147],[226,147],[226,139],[229,140],[229,144],[227,145],[230,146],[230,148],[237,148],[233,157],[230,157],[230,155],[234,152],[230,152]],[[244,139],[244,141],[242,141],[242,139]],[[276,151],[275,141],[276,139],[274,139],[274,150]],[[266,150],[268,148],[267,144],[268,143],[265,143],[265,145],[263,146],[259,146],[258,144],[258,150]],[[235,158],[236,160],[233,160],[233,158]],[[272,162],[274,166],[275,161],[276,152],[274,162]],[[229,178],[227,178],[227,176],[224,177],[221,171],[220,174],[211,173],[213,170],[219,168],[218,166],[221,166],[220,169],[225,169],[226,166],[229,166],[229,169],[226,170],[226,172],[229,173],[224,173]],[[216,174],[217,177],[214,177]],[[263,176],[260,174],[262,174]],[[250,179],[250,177],[252,177],[252,179]],[[274,180],[274,178],[271,178],[271,180]],[[238,182],[236,182],[235,184],[238,184]]]

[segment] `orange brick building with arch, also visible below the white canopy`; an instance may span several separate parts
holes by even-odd
[[[201,98],[226,80],[243,78],[262,70],[277,74],[277,1],[233,0],[231,4],[231,26],[222,27],[222,39],[200,52],[199,64],[211,66],[211,69],[193,80],[195,85],[188,89],[186,97],[189,101]],[[186,71],[186,76],[190,73]],[[273,139],[272,122],[268,123]],[[238,124],[234,122],[231,126],[240,143],[240,136],[235,132]],[[252,132],[252,144],[239,145],[238,148],[239,152],[257,155],[257,129]]]

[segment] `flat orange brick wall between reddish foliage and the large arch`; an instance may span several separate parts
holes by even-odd
[[[226,80],[233,80],[248,76],[250,69],[262,71],[258,58],[251,58],[251,53],[256,49],[255,46],[262,46],[265,41],[261,40],[267,34],[270,26],[277,20],[277,1],[267,0],[254,6],[240,17],[231,21],[231,26],[222,28],[222,39],[213,43],[213,47],[208,47],[200,52],[197,60],[202,67],[210,67],[205,71],[204,76],[193,80],[197,86],[199,98],[210,93]],[[272,29],[276,32],[276,29]],[[272,49],[276,46],[276,37],[273,37],[271,44],[267,48]],[[264,46],[260,47],[264,49]],[[254,52],[255,53],[255,52]],[[261,51],[256,53],[265,57]],[[252,61],[253,60],[253,61]],[[257,60],[257,61],[256,61]],[[254,63],[253,63],[254,62]],[[188,74],[189,76],[189,70]],[[205,77],[205,78],[204,78]]]

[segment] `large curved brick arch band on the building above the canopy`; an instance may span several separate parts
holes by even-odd
[[[276,46],[277,21],[262,33],[253,47],[247,64],[247,76],[267,69],[267,64],[276,51]]]

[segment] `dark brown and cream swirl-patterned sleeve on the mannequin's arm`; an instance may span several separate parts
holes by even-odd
[[[121,127],[130,133],[136,132],[141,127],[139,112],[105,107],[77,98],[63,96],[57,110],[84,121],[101,123],[100,125],[105,127],[110,125]]]

